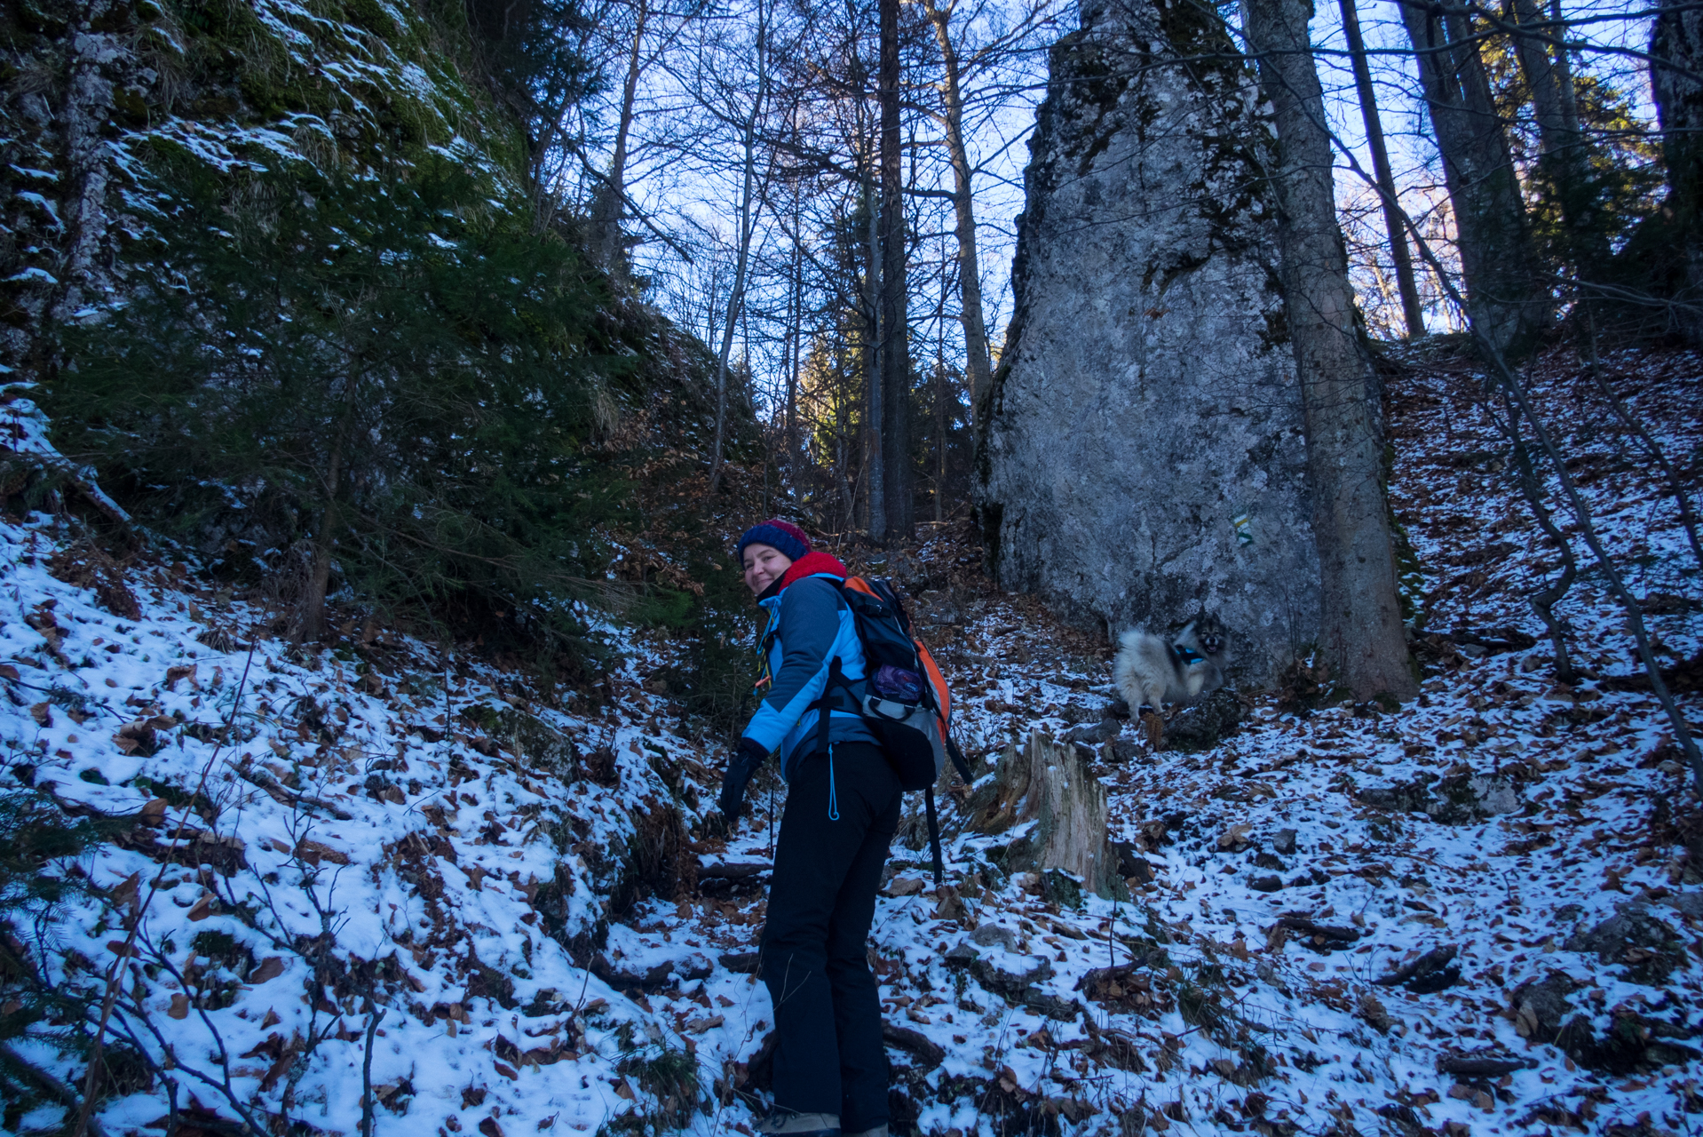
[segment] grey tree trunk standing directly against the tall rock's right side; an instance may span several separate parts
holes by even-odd
[[[1277,123],[1284,307],[1306,416],[1320,563],[1318,639],[1357,699],[1419,694],[1396,600],[1390,506],[1371,409],[1376,377],[1354,322],[1330,181],[1330,135],[1306,22],[1310,0],[1247,0],[1245,34]]]

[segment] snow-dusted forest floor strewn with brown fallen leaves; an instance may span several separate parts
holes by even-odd
[[[1698,360],[1609,363],[1694,474]],[[1431,634],[1424,695],[1395,713],[1250,695],[1240,733],[1155,753],[1136,724],[1100,726],[1104,648],[978,583],[972,551],[940,539],[892,564],[935,593],[974,762],[1098,731],[1127,873],[1127,898],[1071,907],[1001,871],[1018,830],[955,832],[947,805],[937,892],[908,820],[872,944],[896,1128],[1694,1128],[1698,803],[1597,574],[1560,605],[1592,677],[1555,682],[1522,600],[1553,552],[1478,389],[1448,361],[1391,378]],[[1657,470],[1591,390],[1543,372],[1677,665],[1703,646],[1700,574]],[[100,895],[60,910],[37,956],[92,1016],[121,961],[109,1035],[157,1071],[126,1067],[106,1132],[158,1132],[167,1079],[203,1132],[216,1115],[358,1134],[368,1088],[380,1134],[749,1132],[770,793],[760,779],[725,842],[703,835],[724,752],[652,678],[678,644],[610,627],[622,661],[599,699],[553,704],[376,626],[291,649],[255,636],[257,600],[170,561],[116,576],[77,534],[0,525],[0,786],[124,818],[48,869]],[[75,1076],[44,1042],[19,1050]]]

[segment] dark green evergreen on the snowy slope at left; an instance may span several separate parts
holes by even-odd
[[[65,452],[146,523],[283,569],[298,636],[339,583],[572,634],[611,489],[588,443],[637,361],[579,252],[433,155],[157,174],[136,291],[68,332]]]

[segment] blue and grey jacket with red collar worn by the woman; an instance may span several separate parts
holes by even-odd
[[[857,617],[833,581],[845,580],[848,569],[826,552],[807,552],[792,563],[780,578],[780,586],[758,603],[768,612],[768,627],[758,643],[766,655],[765,680],[760,680],[763,702],[744,728],[744,738],[756,742],[765,752],[780,752],[780,776],[792,781],[799,760],[814,753],[817,743],[817,716],[809,709],[823,697],[828,668],[840,658],[840,673],[862,689],[863,646],[857,638]],[[836,699],[846,709],[833,709],[828,719],[828,742],[867,742],[879,745],[852,709],[845,690]]]

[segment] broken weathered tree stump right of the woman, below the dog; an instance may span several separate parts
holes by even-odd
[[[1105,898],[1121,895],[1117,851],[1107,839],[1105,786],[1087,748],[1054,743],[1042,731],[1005,748],[993,781],[966,803],[966,828],[1003,834],[1022,827],[1005,852],[1012,873],[1059,869]]]

